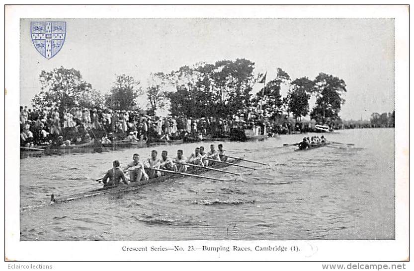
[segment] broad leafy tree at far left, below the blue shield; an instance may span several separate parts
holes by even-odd
[[[94,93],[91,84],[85,82],[81,72],[74,68],[42,70],[39,79],[41,91],[33,98],[33,107],[57,107],[61,116],[66,109],[80,106],[85,96]],[[96,97],[97,94],[92,96]]]

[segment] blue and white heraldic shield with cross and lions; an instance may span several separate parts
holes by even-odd
[[[66,22],[30,22],[30,34],[36,50],[51,59],[65,42]]]

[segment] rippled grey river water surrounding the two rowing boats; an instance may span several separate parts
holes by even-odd
[[[151,149],[188,155],[200,143],[21,159],[20,240],[394,239],[394,129],[325,136],[355,145],[275,148],[303,135],[224,142],[228,155],[271,166],[242,162],[257,170],[231,166],[226,170],[242,175],[206,173],[227,182],[185,177],[53,205],[47,194],[99,188],[92,179],[114,159],[124,166]]]

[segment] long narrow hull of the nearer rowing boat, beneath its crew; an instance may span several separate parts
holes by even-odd
[[[227,162],[236,164],[239,163],[240,160],[229,160]],[[228,167],[228,165],[223,164],[223,163],[214,163],[214,164],[209,164],[208,165],[211,168],[224,168],[224,167]],[[190,167],[189,170],[187,170],[186,173],[190,173],[190,174],[203,174],[208,172],[209,169],[206,168],[193,168]],[[95,189],[95,190],[91,190],[88,192],[83,192],[83,193],[78,193],[78,194],[74,194],[74,195],[70,195],[70,196],[63,196],[63,197],[56,197],[54,194],[51,195],[51,203],[62,203],[62,202],[70,202],[70,201],[74,201],[74,200],[78,200],[78,199],[83,199],[83,198],[90,198],[90,197],[95,197],[95,196],[99,196],[99,195],[105,195],[105,194],[109,194],[109,193],[125,193],[125,192],[130,192],[130,191],[135,191],[140,189],[140,187],[144,186],[144,185],[148,185],[148,184],[152,184],[152,183],[160,183],[160,182],[165,182],[168,180],[173,180],[173,179],[178,179],[178,178],[183,178],[184,176],[182,175],[178,175],[178,174],[167,174],[161,177],[157,177],[157,178],[152,178],[146,181],[140,181],[140,182],[131,182],[130,185],[118,185],[115,187],[112,186],[106,186],[106,187],[102,187],[99,189]]]

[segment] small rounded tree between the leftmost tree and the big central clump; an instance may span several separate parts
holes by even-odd
[[[139,81],[129,75],[118,75],[111,93],[105,97],[105,105],[112,110],[138,109],[136,99],[141,94]]]

